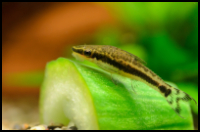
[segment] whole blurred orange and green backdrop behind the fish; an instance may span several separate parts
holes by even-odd
[[[198,2],[3,3],[2,94],[38,91],[46,63],[80,44],[133,53],[198,102]]]

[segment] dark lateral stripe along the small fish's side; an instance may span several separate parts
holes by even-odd
[[[101,60],[104,63],[108,63],[114,67],[117,67],[118,69],[136,75],[144,80],[146,80],[148,83],[154,85],[154,86],[158,86],[159,83],[154,81],[151,77],[147,76],[146,74],[142,73],[141,71],[131,67],[130,65],[125,65],[122,63],[117,62],[115,59],[111,59],[109,56],[105,56],[103,54],[98,54],[98,53],[93,53],[92,58],[96,58],[97,60]]]

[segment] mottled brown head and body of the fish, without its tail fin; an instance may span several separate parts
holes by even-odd
[[[130,78],[145,81],[159,92],[158,86],[166,85],[159,76],[142,64],[144,62],[140,58],[114,46],[80,45],[72,49],[87,56],[91,59],[90,61],[101,65],[100,67],[105,70],[115,71]],[[104,66],[100,64],[101,62],[104,63]],[[107,66],[105,66],[106,64]]]

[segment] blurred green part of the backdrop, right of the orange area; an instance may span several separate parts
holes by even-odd
[[[187,92],[198,92],[198,3],[126,2],[106,6],[121,25],[97,32],[94,43],[131,52],[164,80],[183,90],[189,86]]]

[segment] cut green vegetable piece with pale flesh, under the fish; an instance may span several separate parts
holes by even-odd
[[[193,129],[189,104],[181,108],[185,119],[146,84],[64,58],[47,64],[40,94],[41,123],[78,129]]]

